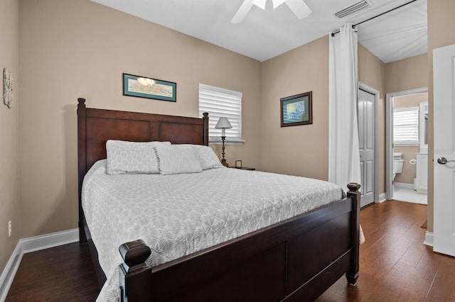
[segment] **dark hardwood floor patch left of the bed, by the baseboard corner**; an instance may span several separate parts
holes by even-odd
[[[24,254],[6,301],[95,301],[100,288],[88,245]]]

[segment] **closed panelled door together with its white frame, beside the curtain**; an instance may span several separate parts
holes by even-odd
[[[359,83],[357,98],[360,152],[360,207],[379,201],[378,196],[378,104],[379,91]]]

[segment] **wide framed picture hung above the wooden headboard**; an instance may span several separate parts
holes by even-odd
[[[150,79],[133,74],[123,74],[123,95],[161,101],[177,101],[177,84],[161,79]]]

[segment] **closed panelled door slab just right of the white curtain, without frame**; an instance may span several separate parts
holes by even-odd
[[[362,207],[375,201],[375,95],[358,89],[357,104]]]

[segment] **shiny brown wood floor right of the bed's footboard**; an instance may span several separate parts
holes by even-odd
[[[455,258],[423,245],[427,206],[385,201],[363,208],[357,286],[339,279],[317,301],[455,301]]]

